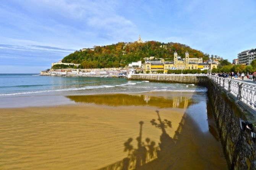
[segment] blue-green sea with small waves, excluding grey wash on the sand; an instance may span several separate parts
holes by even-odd
[[[39,76],[36,74],[0,74],[0,98],[42,95],[84,95],[138,93],[149,91],[199,91],[194,84],[151,83],[125,78]]]

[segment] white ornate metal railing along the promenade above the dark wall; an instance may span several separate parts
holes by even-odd
[[[207,77],[223,87],[228,93],[231,93],[237,99],[237,102],[241,101],[256,110],[256,84],[214,75],[207,75]]]

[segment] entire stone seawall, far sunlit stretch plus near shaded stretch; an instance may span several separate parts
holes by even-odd
[[[240,119],[250,121],[255,126],[255,110],[248,108],[239,95],[235,97],[232,94],[237,82],[217,77],[209,79],[203,75],[131,75],[130,79],[206,86],[229,168],[256,170],[256,145],[251,136],[251,131],[256,132],[256,128],[240,128]],[[242,87],[237,83],[238,86]],[[237,92],[241,93],[241,89]]]

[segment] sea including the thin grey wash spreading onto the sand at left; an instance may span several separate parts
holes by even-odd
[[[201,92],[206,95],[207,89],[194,84],[152,83],[125,78],[0,74],[0,108],[75,104],[65,97],[70,95],[157,91]]]

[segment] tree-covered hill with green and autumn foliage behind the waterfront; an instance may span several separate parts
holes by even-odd
[[[144,61],[143,58],[150,56],[170,61],[173,60],[175,51],[178,52],[181,58],[184,58],[185,52],[188,51],[191,58],[209,59],[209,54],[192,49],[185,44],[146,41],[145,43],[121,42],[107,46],[94,46],[93,49],[75,51],[64,57],[62,62],[81,64],[79,68],[125,67],[130,62]],[[58,65],[55,67],[58,67]]]

